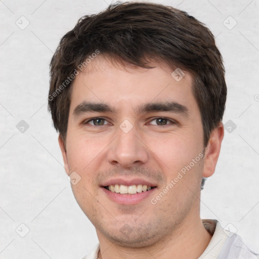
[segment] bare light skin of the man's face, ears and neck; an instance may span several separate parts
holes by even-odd
[[[79,206],[96,228],[99,258],[197,258],[211,239],[200,219],[200,184],[202,176],[209,177],[215,170],[224,127],[219,123],[204,157],[152,204],[150,199],[204,151],[192,76],[185,71],[178,82],[166,64],[153,65],[156,67],[152,69],[125,67],[99,55],[73,82],[66,143],[59,137],[59,144],[67,175],[76,171],[81,177],[71,186]],[[75,107],[83,101],[109,104],[116,113],[95,111],[74,116]],[[136,113],[136,107],[143,103],[164,101],[186,106],[188,115]],[[104,124],[88,122],[93,117],[104,118]],[[157,123],[159,117],[168,119],[162,120],[165,125]],[[133,126],[128,133],[119,127],[124,120]],[[117,204],[100,185],[119,176],[142,177],[156,183],[156,188],[138,204]],[[120,231],[125,224],[131,230],[129,235]]]

